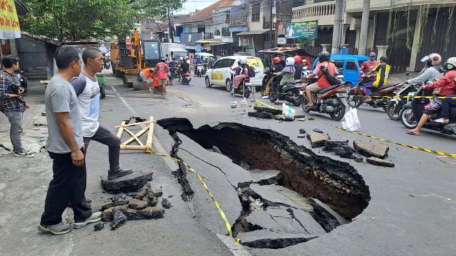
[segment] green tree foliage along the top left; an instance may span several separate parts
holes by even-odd
[[[126,36],[135,20],[165,17],[167,10],[182,7],[180,0],[23,0],[32,10],[21,17],[29,33],[78,40]]]

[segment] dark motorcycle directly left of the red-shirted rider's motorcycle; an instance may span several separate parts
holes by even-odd
[[[304,93],[304,86],[302,79],[297,79],[292,83],[280,86],[280,81],[272,82],[272,92],[269,93],[269,101],[275,102],[277,99],[291,102],[293,106],[302,104],[302,94]]]

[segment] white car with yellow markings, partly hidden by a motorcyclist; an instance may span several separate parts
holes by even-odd
[[[227,56],[219,58],[206,71],[204,81],[206,87],[225,86],[228,92],[231,91],[231,72],[238,66],[241,56]],[[255,68],[255,77],[250,77],[252,86],[261,87],[263,85],[264,69],[263,62],[259,57],[243,56],[247,58],[247,64]]]

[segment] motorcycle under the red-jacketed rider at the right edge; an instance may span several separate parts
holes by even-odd
[[[420,94],[420,90],[416,92],[415,95]],[[432,92],[421,90],[421,96],[431,96]],[[413,129],[418,125],[418,121],[422,116],[422,111],[424,110],[424,106],[429,103],[429,99],[424,98],[413,98],[411,103],[407,103],[404,107],[400,110],[400,122],[403,123],[407,129]],[[453,134],[456,135],[456,107],[450,107],[450,122],[447,124],[444,123],[437,123],[433,120],[440,118],[441,114],[432,114],[429,116],[429,120],[423,125],[423,128],[431,129],[435,131],[440,131],[442,133]]]

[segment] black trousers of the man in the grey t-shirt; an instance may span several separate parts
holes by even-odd
[[[74,212],[75,222],[82,222],[92,215],[91,207],[86,203],[86,164],[75,166],[71,153],[57,154],[49,152],[53,159],[53,177],[47,189],[45,212],[41,216],[41,225],[56,225],[62,221],[62,214],[67,207]]]

